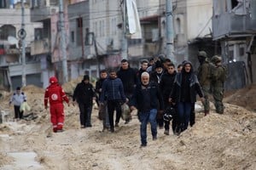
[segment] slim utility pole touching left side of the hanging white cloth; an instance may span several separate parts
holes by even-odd
[[[122,1],[122,0],[121,0]],[[122,59],[128,58],[128,42],[126,37],[126,0],[122,1],[123,3],[123,37],[122,37]]]

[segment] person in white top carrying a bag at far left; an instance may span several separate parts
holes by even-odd
[[[17,87],[16,92],[9,100],[9,105],[13,103],[15,106],[15,119],[23,119],[23,111],[20,111],[20,105],[23,102],[26,102],[26,95],[21,92],[20,87]]]

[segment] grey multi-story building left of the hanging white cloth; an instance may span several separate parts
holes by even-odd
[[[120,11],[118,0],[84,0],[68,6],[72,77],[84,72],[98,77],[99,70],[119,65]]]

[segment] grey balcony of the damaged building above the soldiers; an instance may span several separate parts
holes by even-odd
[[[224,13],[212,17],[213,40],[248,37],[256,33],[256,20],[247,15]]]

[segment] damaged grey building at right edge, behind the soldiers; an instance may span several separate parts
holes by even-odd
[[[221,55],[230,70],[226,88],[256,82],[256,1],[212,2],[213,39],[221,42]]]

